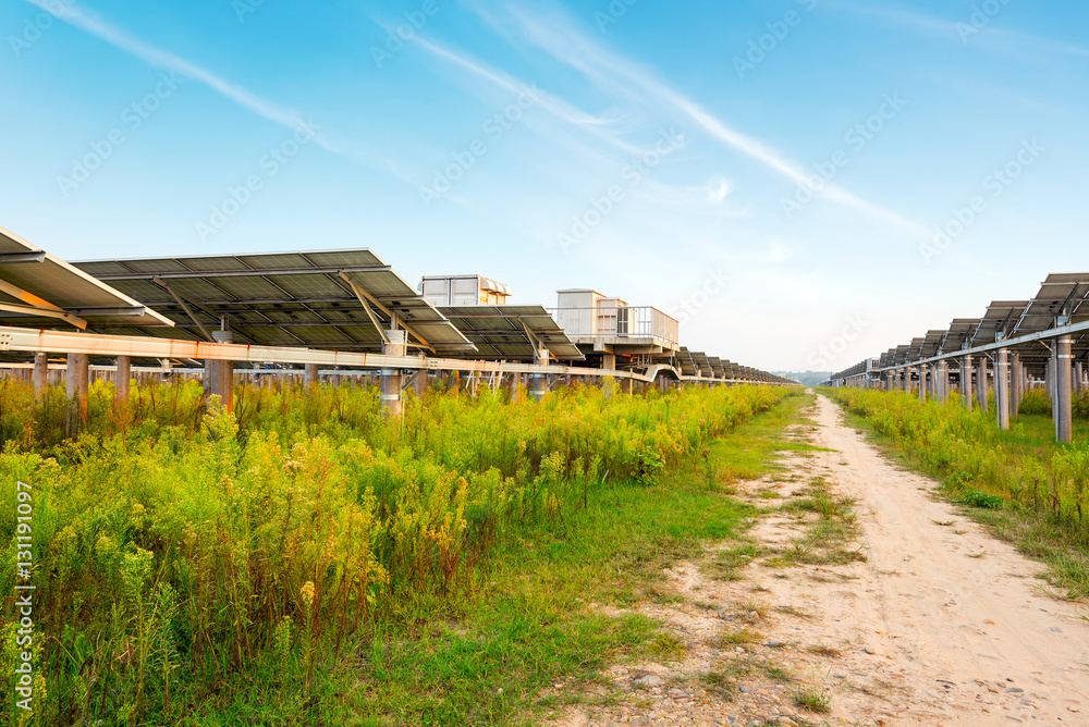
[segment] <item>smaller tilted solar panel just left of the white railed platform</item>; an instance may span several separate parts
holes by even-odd
[[[536,346],[530,333],[558,359],[585,358],[543,306],[443,306],[438,310],[476,345],[473,358],[533,361]]]

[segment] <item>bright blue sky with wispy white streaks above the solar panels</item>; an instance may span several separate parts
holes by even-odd
[[[594,287],[694,349],[837,370],[1086,269],[1087,25],[1027,0],[13,0],[0,226],[72,260],[370,247],[412,284]]]

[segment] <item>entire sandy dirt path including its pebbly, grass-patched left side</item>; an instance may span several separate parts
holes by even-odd
[[[724,582],[697,564],[666,576],[677,604],[639,611],[662,619],[687,646],[677,662],[613,667],[620,703],[563,715],[563,727],[635,725],[1089,725],[1089,621],[1084,605],[1056,601],[1039,564],[996,541],[930,493],[938,483],[905,472],[842,423],[820,397],[809,440],[833,452],[786,459],[787,473],[745,485],[764,506],[749,537],[782,549],[805,522],[774,506],[812,477],[856,500],[865,562],[769,567],[758,559]],[[764,496],[760,496],[763,492]],[[725,547],[729,544],[723,544]],[[760,602],[764,613],[746,615]],[[723,645],[742,625],[759,643]],[[813,653],[815,646],[834,651]],[[739,666],[763,667],[745,669]],[[794,676],[767,675],[769,665]],[[732,699],[709,671],[741,674]],[[652,677],[648,679],[648,677]],[[824,690],[832,711],[797,707],[792,690]]]

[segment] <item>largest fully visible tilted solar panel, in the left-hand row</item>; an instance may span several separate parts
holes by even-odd
[[[220,318],[228,317],[242,343],[375,350],[381,348],[382,333],[371,321],[374,315],[383,329],[396,318],[415,347],[437,354],[475,350],[442,313],[366,248],[73,264],[173,321],[175,331],[169,335],[175,337],[207,340]]]

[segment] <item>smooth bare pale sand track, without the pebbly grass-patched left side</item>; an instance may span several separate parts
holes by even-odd
[[[926,725],[1089,724],[1089,623],[1040,590],[1041,566],[934,502],[935,482],[896,469],[824,397],[818,422],[817,444],[839,453],[816,464],[858,501],[869,559],[862,582],[810,602],[828,641],[865,643],[881,671],[904,677],[891,681],[910,699],[884,712]]]

